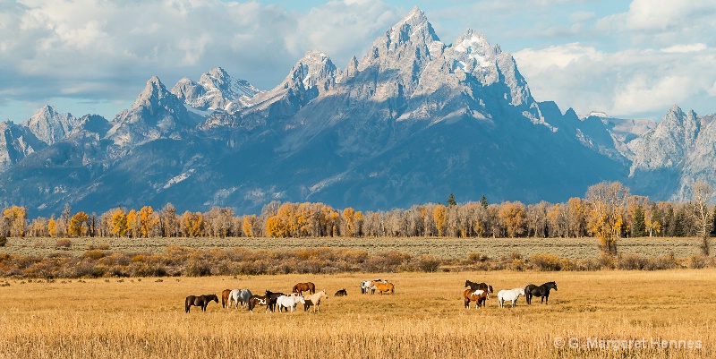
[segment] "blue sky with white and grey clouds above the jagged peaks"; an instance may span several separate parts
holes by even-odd
[[[0,119],[111,120],[151,76],[171,89],[216,66],[269,90],[311,49],[362,58],[416,5],[446,44],[467,29],[499,44],[562,112],[716,113],[712,0],[0,0]]]

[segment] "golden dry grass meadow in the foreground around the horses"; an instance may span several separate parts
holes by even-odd
[[[360,295],[360,281],[374,278],[390,279],[396,294]],[[493,295],[486,308],[467,310],[465,279],[484,280],[496,292],[555,280],[559,290],[550,305],[520,298],[516,308],[500,309]],[[10,286],[0,287],[0,358],[716,356],[716,269],[120,280],[4,279]],[[197,307],[184,313],[186,295],[239,287],[289,291],[307,280],[330,295],[318,313],[251,315],[220,303],[205,313]],[[344,287],[347,297],[333,296]],[[574,338],[579,347],[559,348],[560,338]],[[599,342],[642,339],[645,349],[614,350],[614,342]],[[698,340],[702,348],[662,349],[657,339]],[[611,344],[584,347],[600,343]]]

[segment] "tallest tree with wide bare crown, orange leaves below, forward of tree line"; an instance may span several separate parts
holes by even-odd
[[[617,254],[617,239],[624,224],[624,209],[629,189],[619,182],[602,182],[587,189],[590,206],[589,229],[600,239],[602,252]]]

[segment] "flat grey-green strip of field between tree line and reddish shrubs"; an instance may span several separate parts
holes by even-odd
[[[595,238],[72,238],[69,248],[58,247],[55,238],[11,238],[3,252],[48,255],[54,252],[70,252],[81,255],[90,245],[107,245],[115,252],[166,252],[169,245],[197,249],[226,249],[245,247],[249,249],[296,249],[296,248],[346,248],[369,253],[387,251],[407,252],[411,255],[431,254],[441,258],[465,258],[469,252],[481,252],[498,259],[518,252],[524,257],[535,253],[551,253],[562,258],[586,259],[599,257],[598,240]],[[618,241],[618,251],[623,254],[663,256],[673,253],[688,257],[699,252],[695,238],[625,238]]]

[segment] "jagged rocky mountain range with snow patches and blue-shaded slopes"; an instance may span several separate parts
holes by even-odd
[[[716,187],[716,115],[580,116],[536,101],[510,54],[474,30],[442,42],[413,8],[344,69],[309,51],[272,90],[220,67],[151,77],[107,120],[43,107],[0,124],[0,198],[30,216],[122,206],[320,201],[377,210],[445,201],[560,202],[621,181],[652,200]]]

